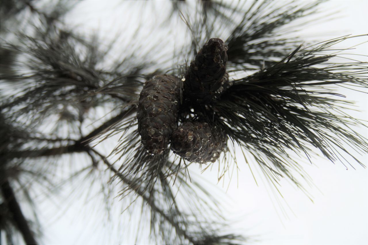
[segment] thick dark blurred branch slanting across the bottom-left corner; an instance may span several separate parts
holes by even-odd
[[[37,244],[33,237],[33,232],[28,226],[28,221],[22,213],[21,207],[15,198],[13,189],[11,188],[8,180],[1,184],[1,192],[3,193],[4,203],[7,205],[7,209],[13,216],[13,221],[21,232],[24,242],[26,244]]]

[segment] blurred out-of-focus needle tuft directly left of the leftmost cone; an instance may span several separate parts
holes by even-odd
[[[33,126],[56,114],[61,121],[69,121],[71,130],[78,127],[89,110],[105,103],[129,102],[135,98],[141,78],[137,66],[117,65],[114,72],[98,67],[108,50],[99,50],[98,40],[90,42],[68,30],[36,29],[37,38],[21,35],[21,45],[8,45],[13,52],[25,53],[26,62],[15,74],[7,74],[4,82],[18,81],[22,96],[4,96],[3,110],[17,108],[26,124]],[[78,52],[75,49],[78,47]],[[21,74],[29,70],[32,75]],[[114,86],[113,92],[110,87]],[[116,88],[119,88],[116,92]],[[6,92],[3,90],[3,92]],[[6,93],[8,95],[9,93]]]

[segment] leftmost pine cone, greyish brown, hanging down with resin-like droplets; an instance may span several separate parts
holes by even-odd
[[[138,103],[138,132],[142,144],[151,155],[167,149],[170,136],[177,128],[180,106],[180,79],[157,75],[145,82]]]

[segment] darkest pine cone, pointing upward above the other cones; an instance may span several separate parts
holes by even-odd
[[[185,74],[185,97],[192,102],[212,103],[229,86],[226,73],[227,45],[211,38],[199,50]]]

